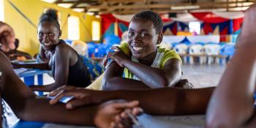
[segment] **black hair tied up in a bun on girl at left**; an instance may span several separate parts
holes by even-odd
[[[61,28],[59,25],[57,12],[58,12],[57,10],[53,10],[53,9],[46,10],[46,12],[42,13],[41,17],[39,18],[39,24],[50,22],[50,23],[53,23],[54,26],[56,26],[56,28],[59,29],[60,31]]]

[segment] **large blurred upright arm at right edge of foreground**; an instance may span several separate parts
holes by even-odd
[[[207,127],[244,127],[254,111],[256,83],[256,6],[246,11],[236,53],[208,105]]]

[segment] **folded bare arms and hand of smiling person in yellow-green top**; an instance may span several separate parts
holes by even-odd
[[[116,51],[108,53],[106,57],[107,59],[105,59],[105,63],[109,58],[115,61],[113,64],[110,64],[106,70],[108,73],[105,74],[104,80],[106,82],[104,82],[104,85],[108,88],[105,89],[116,89],[116,86],[113,85],[116,85],[117,83],[129,83],[129,86],[136,84],[137,86],[140,86],[140,88],[137,89],[145,89],[145,86],[147,88],[160,88],[174,86],[181,80],[181,61],[178,59],[168,59],[165,62],[163,69],[159,69],[131,61],[120,48],[113,47],[113,49]],[[121,67],[129,69],[129,71],[136,75],[141,81],[121,78],[124,71],[124,68]],[[109,88],[109,86],[113,87]],[[133,87],[129,86],[127,86],[128,88],[125,87],[119,89],[133,89]]]

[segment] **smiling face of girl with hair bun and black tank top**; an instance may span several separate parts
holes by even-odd
[[[53,50],[59,43],[61,32],[53,23],[44,22],[38,26],[37,38],[45,50]]]

